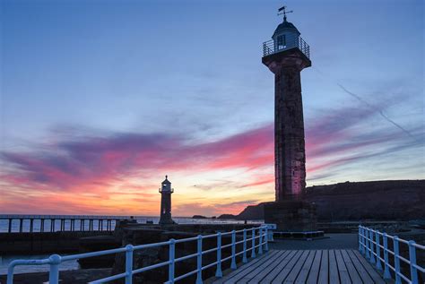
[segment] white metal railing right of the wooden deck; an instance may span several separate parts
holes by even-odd
[[[393,240],[393,251],[388,248],[388,238]],[[380,243],[382,239],[382,244]],[[409,259],[400,255],[400,243],[409,246]],[[382,249],[382,254],[381,254]],[[402,283],[402,279],[407,283],[418,284],[418,271],[422,273],[425,269],[416,262],[416,249],[425,250],[425,245],[416,244],[414,241],[406,241],[397,236],[389,236],[373,228],[359,226],[359,251],[365,255],[371,264],[374,264],[378,271],[382,271],[384,265],[384,279],[392,279],[393,271],[395,284]],[[394,257],[394,265],[389,262],[389,254]],[[403,274],[400,269],[400,261],[410,266],[410,278]]]

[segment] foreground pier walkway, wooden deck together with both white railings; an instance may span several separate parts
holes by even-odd
[[[134,275],[144,271],[166,269],[167,283],[186,279],[201,283],[385,283],[402,280],[418,284],[424,280],[424,245],[389,236],[373,228],[359,227],[358,249],[335,250],[269,250],[273,240],[270,225],[262,225],[212,235],[169,239],[160,243],[126,245],[125,247],[88,254],[51,255],[43,260],[16,260],[9,265],[7,283],[13,284],[13,269],[17,265],[48,264],[49,283],[58,283],[62,262],[106,254],[125,254],[124,271],[91,283],[125,280],[132,284]],[[230,237],[223,243],[222,237]],[[212,240],[214,247],[205,247]],[[390,241],[392,244],[390,244]],[[176,245],[195,242],[195,254],[178,255]],[[400,244],[408,246],[403,254]],[[169,257],[164,262],[134,268],[134,252],[153,247],[168,247]],[[224,253],[227,249],[228,253]],[[205,263],[204,254],[215,254],[213,262]],[[418,257],[417,257],[418,256]],[[176,263],[195,259],[193,271],[179,273]],[[402,263],[403,262],[403,263]],[[210,271],[215,276],[207,276]],[[207,276],[207,277],[205,277]]]

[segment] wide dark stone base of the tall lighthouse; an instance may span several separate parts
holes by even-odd
[[[316,204],[299,200],[265,204],[265,223],[276,224],[276,231],[317,231]]]

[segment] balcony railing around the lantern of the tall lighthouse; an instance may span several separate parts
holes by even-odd
[[[263,43],[263,56],[271,56],[294,47],[299,48],[308,59],[310,58],[310,47],[301,37],[286,37],[281,42],[273,39],[265,41]]]

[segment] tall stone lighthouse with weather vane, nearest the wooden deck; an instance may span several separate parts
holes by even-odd
[[[287,21],[286,7],[279,9],[283,22],[272,40],[263,44],[262,62],[274,74],[274,173],[275,201],[265,206],[266,222],[287,231],[314,229],[315,207],[303,202],[306,188],[306,151],[302,111],[301,76],[311,66],[308,44]]]

